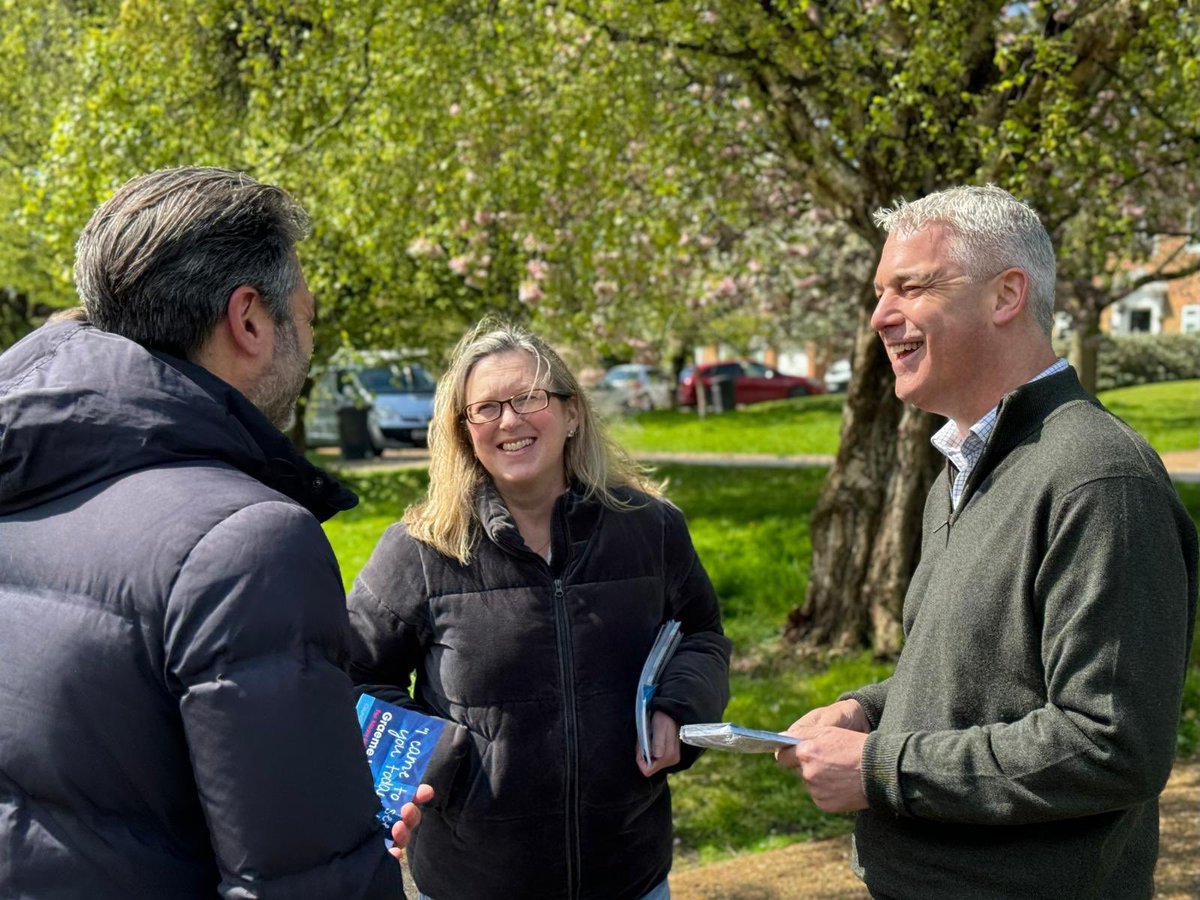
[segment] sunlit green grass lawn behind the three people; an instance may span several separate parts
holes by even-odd
[[[1200,382],[1123,389],[1105,401],[1124,404],[1122,418],[1151,434],[1160,450],[1188,449],[1200,443],[1198,386]],[[701,442],[712,451],[725,446],[740,452],[833,452],[840,403],[840,397],[763,403],[703,424],[695,415],[656,413],[623,424],[620,433],[637,450],[697,450],[694,442]],[[775,428],[785,437],[768,437]],[[1189,431],[1190,443],[1176,445],[1187,440]],[[806,709],[888,674],[890,666],[869,653],[816,667],[794,661],[779,646],[788,610],[804,596],[811,556],[809,518],[824,469],[660,466],[658,472],[668,480],[668,496],[686,514],[721,598],[734,646],[728,720],[782,730]],[[362,502],[325,529],[349,583],[384,528],[425,491],[426,474],[347,474],[344,480]],[[1200,522],[1200,485],[1180,485],[1178,490]],[[1200,643],[1193,649],[1186,690],[1178,750],[1192,755],[1200,749]],[[817,810],[796,778],[780,770],[770,756],[709,752],[690,772],[672,779],[672,793],[680,856],[702,862],[828,836],[847,830],[852,821]]]

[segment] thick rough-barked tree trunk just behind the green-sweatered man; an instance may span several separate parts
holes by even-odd
[[[929,443],[934,416],[895,397],[892,366],[870,326],[874,290],[868,294],[838,458],[812,514],[808,595],[788,614],[785,637],[834,649],[869,644],[894,655],[941,456]]]

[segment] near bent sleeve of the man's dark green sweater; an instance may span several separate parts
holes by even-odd
[[[872,806],[1018,824],[1117,810],[1170,774],[1192,629],[1192,523],[1146,478],[1072,491],[1032,586],[1046,701],[1010,722],[872,733]],[[1181,552],[1182,551],[1182,552]]]

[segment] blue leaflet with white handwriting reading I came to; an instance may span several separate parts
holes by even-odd
[[[376,817],[390,830],[401,806],[416,793],[446,721],[370,694],[359,697],[358,712],[371,780],[383,804]]]

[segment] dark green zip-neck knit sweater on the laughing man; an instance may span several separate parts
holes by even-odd
[[[1004,397],[925,504],[854,868],[890,898],[1150,898],[1196,607],[1162,461],[1073,370]]]

